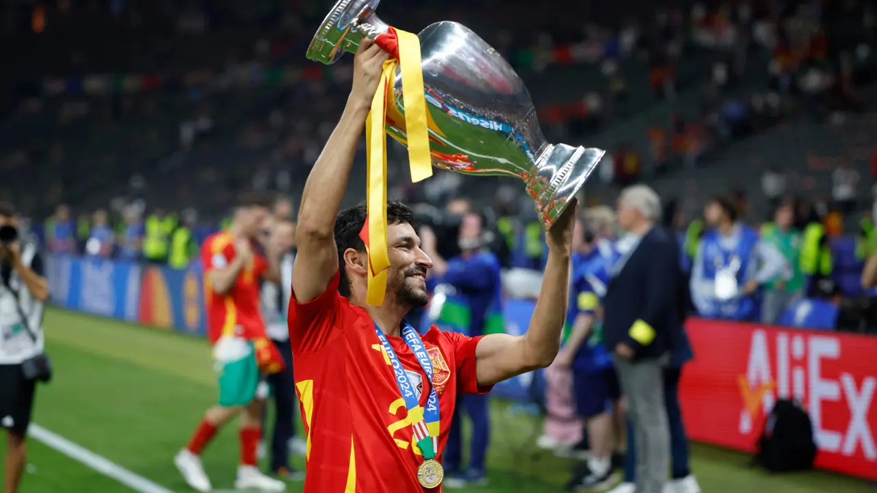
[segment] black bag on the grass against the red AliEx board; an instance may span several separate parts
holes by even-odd
[[[816,442],[807,411],[796,401],[782,399],[767,416],[755,463],[774,473],[813,468]]]

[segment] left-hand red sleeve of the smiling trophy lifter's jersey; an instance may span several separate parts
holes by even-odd
[[[339,304],[341,295],[338,292],[339,273],[335,273],[332,281],[323,293],[307,303],[298,303],[296,289],[289,297],[289,341],[293,354],[314,353],[339,331]]]

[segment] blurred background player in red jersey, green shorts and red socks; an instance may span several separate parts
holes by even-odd
[[[256,395],[260,375],[275,373],[283,365],[281,355],[267,339],[259,304],[260,279],[279,282],[281,250],[276,242],[267,243],[268,260],[255,251],[268,204],[257,196],[246,198],[235,211],[232,227],[211,235],[201,249],[207,335],[219,372],[219,402],[204,414],[189,445],[174,458],[183,478],[198,491],[210,491],[199,454],[217,430],[241,411],[235,488],[285,489],[282,481],[263,475],[256,467],[264,398]]]

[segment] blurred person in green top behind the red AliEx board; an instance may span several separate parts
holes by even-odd
[[[776,324],[788,307],[804,294],[801,270],[802,235],[795,229],[795,204],[783,202],[774,211],[774,222],[761,226],[761,240],[776,247],[788,261],[791,272],[777,275],[764,285],[761,321]]]

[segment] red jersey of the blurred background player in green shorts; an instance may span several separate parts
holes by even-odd
[[[210,235],[201,247],[207,337],[212,343],[223,335],[249,340],[265,337],[265,321],[259,310],[260,277],[267,270],[264,257],[253,253],[253,260],[240,270],[232,289],[225,295],[220,295],[210,286],[210,270],[225,268],[232,263],[234,255],[234,236],[230,232]]]

